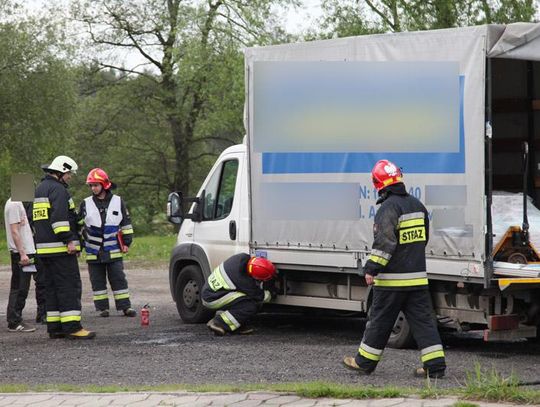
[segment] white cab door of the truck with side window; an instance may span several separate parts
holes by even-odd
[[[245,249],[246,243],[239,239],[241,166],[242,154],[223,157],[204,186],[202,220],[195,224],[193,240],[206,251],[212,270]]]

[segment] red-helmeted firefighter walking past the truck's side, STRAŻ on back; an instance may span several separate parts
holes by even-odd
[[[373,302],[358,353],[345,357],[343,363],[360,374],[371,374],[403,311],[421,352],[423,367],[414,375],[443,377],[446,364],[426,273],[427,210],[407,193],[401,170],[390,161],[378,161],[371,175],[379,195],[377,204],[381,204],[373,225],[373,246],[364,266],[366,283],[373,285]]]

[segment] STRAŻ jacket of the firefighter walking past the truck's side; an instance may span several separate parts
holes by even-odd
[[[364,272],[374,277],[376,288],[425,288],[427,209],[407,193],[402,183],[384,188],[380,195],[378,203],[382,204],[375,215],[373,246]]]

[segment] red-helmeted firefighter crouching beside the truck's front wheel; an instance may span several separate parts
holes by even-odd
[[[210,274],[202,290],[202,302],[218,310],[207,326],[218,336],[226,333],[249,334],[245,324],[257,314],[263,302],[272,299],[270,282],[276,268],[267,259],[239,253],[221,263]]]

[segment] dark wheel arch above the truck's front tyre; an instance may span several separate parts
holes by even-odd
[[[180,271],[189,265],[200,267],[204,278],[208,278],[211,273],[208,256],[204,249],[196,243],[181,243],[176,246],[171,253],[169,262],[169,289],[171,296],[176,302],[175,285]]]

